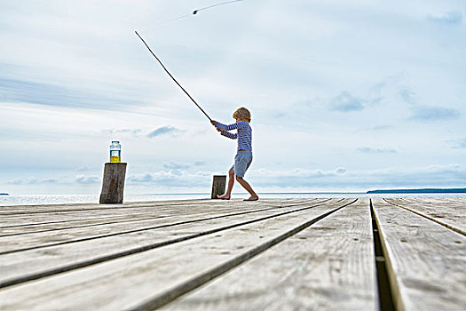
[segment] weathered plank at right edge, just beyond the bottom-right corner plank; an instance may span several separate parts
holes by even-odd
[[[431,199],[385,199],[385,201],[466,235],[466,204]]]

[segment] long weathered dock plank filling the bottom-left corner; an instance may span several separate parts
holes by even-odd
[[[347,201],[346,201],[347,202]],[[333,203],[111,260],[0,291],[6,309],[115,310],[178,289],[212,267],[235,262],[267,241],[344,205]],[[233,261],[232,261],[233,260]],[[169,295],[170,296],[170,295]],[[40,307],[38,307],[40,306]]]

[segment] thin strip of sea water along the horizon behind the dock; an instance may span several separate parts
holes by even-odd
[[[232,198],[247,198],[248,194],[233,194]],[[342,198],[342,197],[398,197],[398,198],[466,198],[466,194],[366,194],[366,193],[259,193],[264,199],[285,198]],[[210,194],[147,194],[124,195],[124,202],[144,202],[162,200],[209,199]],[[99,203],[99,195],[0,195],[0,206],[11,205],[48,205],[66,203]]]

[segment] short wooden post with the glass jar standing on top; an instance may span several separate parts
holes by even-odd
[[[105,163],[100,204],[123,203],[126,163]]]

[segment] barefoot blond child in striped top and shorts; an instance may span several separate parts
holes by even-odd
[[[214,120],[210,121],[210,123],[214,125],[217,128],[217,131],[223,136],[232,140],[238,139],[238,153],[234,157],[234,164],[232,168],[228,171],[228,187],[224,195],[217,195],[217,197],[222,200],[230,200],[234,184],[233,177],[236,175],[236,180],[249,192],[250,195],[248,199],[243,201],[257,201],[259,197],[256,192],[254,192],[249,183],[243,179],[244,174],[252,162],[252,130],[249,125],[249,122],[251,122],[251,114],[248,109],[241,107],[233,113],[233,119],[236,119],[236,123],[230,125],[220,124]],[[234,129],[238,130],[238,134],[228,132]]]

